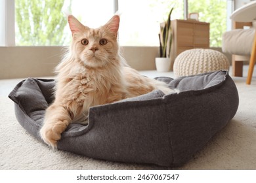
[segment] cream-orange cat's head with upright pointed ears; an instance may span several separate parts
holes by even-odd
[[[91,29],[68,16],[72,32],[72,55],[88,67],[104,67],[116,61],[118,55],[117,32],[119,16],[113,16],[105,25]]]

